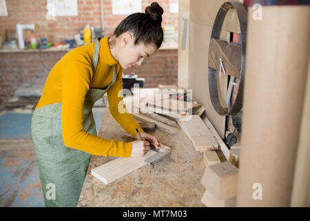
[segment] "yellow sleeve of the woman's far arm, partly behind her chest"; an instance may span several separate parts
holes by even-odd
[[[140,133],[145,133],[132,115],[127,111],[127,108],[123,102],[123,80],[122,80],[123,68],[119,68],[117,73],[117,79],[114,85],[107,90],[107,99],[109,100],[110,113],[121,124],[127,133],[130,133],[134,137],[138,134],[136,128]],[[118,111],[118,108],[121,110]]]

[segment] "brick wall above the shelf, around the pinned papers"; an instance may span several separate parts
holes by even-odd
[[[156,0],[164,9],[163,26],[178,26],[178,14],[169,13],[169,0]],[[152,0],[142,0],[142,11],[152,3]],[[63,42],[72,38],[85,25],[92,24],[101,27],[99,0],[78,0],[79,16],[56,17],[54,21],[45,19],[47,12],[46,0],[6,0],[8,17],[0,17],[1,27],[8,30],[8,37],[16,37],[17,23],[37,23],[38,37],[47,37],[50,42]],[[103,0],[105,35],[110,35],[114,28],[127,15],[112,15],[112,1]],[[177,33],[176,28],[176,33]]]

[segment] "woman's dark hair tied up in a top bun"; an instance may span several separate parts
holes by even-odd
[[[145,8],[145,13],[134,13],[126,17],[114,30],[114,35],[119,37],[124,32],[130,31],[134,35],[134,44],[154,44],[157,48],[163,43],[163,8],[153,2]]]

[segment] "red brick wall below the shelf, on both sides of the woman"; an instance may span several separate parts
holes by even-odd
[[[23,83],[44,84],[48,73],[65,52],[14,52],[0,53],[0,104],[14,95]],[[145,87],[158,84],[176,84],[177,50],[158,50],[141,66],[125,70],[145,77]]]

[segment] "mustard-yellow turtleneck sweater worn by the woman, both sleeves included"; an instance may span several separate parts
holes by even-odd
[[[110,112],[127,133],[136,137],[135,128],[144,132],[130,113],[118,112],[118,104],[123,99],[118,97],[118,91],[123,88],[123,70],[111,54],[108,39],[109,37],[105,37],[100,41],[99,61],[95,73],[92,70],[94,43],[74,48],[63,56],[50,71],[35,109],[61,102],[65,146],[93,155],[130,157],[132,143],[116,142],[91,135],[83,126],[83,107],[87,91],[90,88],[102,89],[111,84],[113,66],[116,65],[116,82],[107,90]]]

